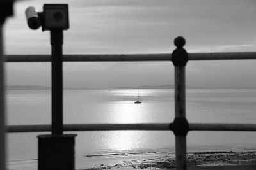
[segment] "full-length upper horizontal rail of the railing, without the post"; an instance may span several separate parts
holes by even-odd
[[[50,62],[51,55],[6,55],[7,62]],[[256,52],[189,53],[189,60],[256,59]],[[63,55],[64,62],[170,61],[171,53]]]

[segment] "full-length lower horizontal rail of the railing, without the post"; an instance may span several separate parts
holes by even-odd
[[[64,131],[145,130],[170,131],[172,123],[159,124],[65,124]],[[51,125],[9,125],[7,132],[49,132]],[[189,124],[189,131],[256,131],[256,124]]]

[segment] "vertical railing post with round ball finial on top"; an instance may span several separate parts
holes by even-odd
[[[188,62],[188,53],[183,48],[186,41],[182,37],[174,40],[175,49],[172,53],[172,62],[175,66],[175,119],[173,132],[175,134],[175,161],[177,170],[186,170],[186,134],[188,121],[186,120],[186,83],[185,66]]]

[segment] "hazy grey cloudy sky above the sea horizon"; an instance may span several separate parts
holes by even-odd
[[[4,27],[5,53],[51,54],[49,31],[31,30],[24,11],[44,0],[15,3]],[[254,52],[256,1],[248,0],[55,0],[69,6],[63,54],[172,53],[186,38],[188,53]],[[189,61],[187,84],[256,87],[256,60]],[[65,62],[64,86],[111,88],[174,83],[172,62]],[[6,64],[8,85],[51,86],[50,63]]]

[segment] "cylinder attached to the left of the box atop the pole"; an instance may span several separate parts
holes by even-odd
[[[31,29],[38,29],[41,26],[41,20],[38,16],[38,13],[36,12],[36,8],[33,6],[30,6],[25,11],[26,18],[28,21],[28,26]]]

